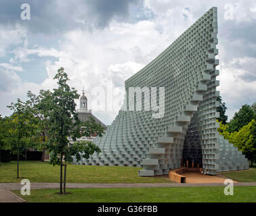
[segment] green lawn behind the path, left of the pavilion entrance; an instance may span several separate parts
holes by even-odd
[[[137,167],[103,167],[67,165],[68,183],[173,183],[168,178],[138,176]],[[0,183],[20,182],[16,178],[16,161],[0,163]],[[20,177],[30,182],[60,182],[60,166],[48,162],[20,161]]]

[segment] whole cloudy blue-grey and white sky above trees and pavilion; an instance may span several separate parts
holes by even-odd
[[[218,9],[217,90],[232,118],[242,105],[256,102],[256,3],[251,0],[1,0],[0,114],[10,115],[6,106],[25,101],[28,90],[56,88],[53,78],[63,67],[68,84],[79,94],[85,89],[92,113],[111,124],[125,80],[213,6]]]

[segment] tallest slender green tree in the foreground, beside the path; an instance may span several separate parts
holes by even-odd
[[[68,86],[68,75],[64,68],[60,68],[54,77],[57,80],[58,88],[49,95],[47,100],[40,109],[44,109],[49,118],[49,141],[47,149],[51,153],[50,163],[60,165],[60,194],[62,194],[62,161],[72,162],[72,156],[77,160],[82,157],[89,157],[94,152],[100,153],[100,148],[91,142],[75,142],[70,144],[71,138],[76,141],[83,134],[97,133],[102,136],[103,129],[100,126],[89,125],[89,128],[81,129],[76,113],[76,104],[74,99],[79,99],[79,94],[74,88]],[[89,132],[89,133],[87,133]]]

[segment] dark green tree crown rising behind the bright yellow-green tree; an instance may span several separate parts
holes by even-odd
[[[234,113],[233,119],[228,124],[228,132],[238,132],[240,128],[249,124],[254,115],[255,113],[252,107],[248,104],[242,105],[242,108],[239,109],[238,113]]]

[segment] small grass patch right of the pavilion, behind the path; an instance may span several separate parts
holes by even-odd
[[[256,182],[256,167],[249,170],[229,171],[221,174],[236,182]]]

